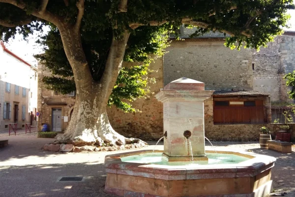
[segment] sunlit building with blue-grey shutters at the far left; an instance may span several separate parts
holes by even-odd
[[[0,131],[35,126],[36,110],[37,68],[0,42]]]

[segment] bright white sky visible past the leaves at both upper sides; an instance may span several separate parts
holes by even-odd
[[[291,24],[290,29],[286,29],[287,31],[295,31],[295,10],[289,10],[289,14],[291,15],[291,19],[289,23]],[[45,30],[44,32],[46,33]],[[16,35],[15,39],[10,39],[8,44],[5,44],[6,47],[27,61],[31,65],[36,65],[37,61],[34,59],[33,55],[42,53],[42,46],[36,44],[35,41],[38,37],[41,36],[40,33],[34,33],[29,36],[28,41],[24,40],[22,35]]]

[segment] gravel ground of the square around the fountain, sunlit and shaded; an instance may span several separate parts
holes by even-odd
[[[22,133],[21,131],[17,133]],[[41,147],[53,139],[37,138],[36,133],[8,136],[9,146],[0,149],[0,197],[116,197],[105,194],[106,179],[103,160],[105,155],[118,152],[54,153]],[[148,142],[153,149],[155,142]],[[276,193],[295,197],[295,153],[281,154],[260,149],[258,142],[213,142],[217,150],[251,150],[277,158],[272,170]],[[163,149],[160,142],[156,149]],[[206,150],[213,148],[206,144]],[[85,177],[82,182],[58,182],[63,176]]]

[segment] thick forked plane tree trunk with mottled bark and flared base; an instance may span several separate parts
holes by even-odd
[[[112,128],[106,112],[107,102],[115,86],[125,52],[129,32],[121,39],[113,38],[105,72],[100,82],[92,80],[79,33],[59,27],[64,50],[73,69],[77,98],[74,111],[58,143],[111,145],[128,144],[139,139],[125,138]]]

